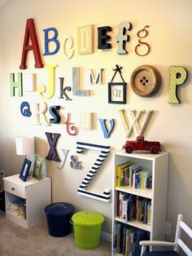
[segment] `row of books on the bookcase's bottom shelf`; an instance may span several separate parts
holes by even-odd
[[[150,233],[137,227],[130,227],[123,223],[115,225],[114,253],[125,256],[140,256],[140,241],[149,240]]]

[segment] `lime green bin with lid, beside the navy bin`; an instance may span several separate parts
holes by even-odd
[[[98,247],[103,222],[103,215],[91,210],[73,214],[72,224],[76,246],[81,249]]]

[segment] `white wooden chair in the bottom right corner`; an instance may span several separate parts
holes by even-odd
[[[190,241],[192,241],[192,230],[188,227],[183,221],[183,215],[178,214],[177,218],[177,228],[175,242],[166,242],[166,241],[140,241],[142,245],[141,256],[177,256],[179,250],[182,249],[187,256],[192,256],[192,251],[190,248],[181,241],[181,230],[184,231],[188,236],[190,236]],[[146,246],[171,246],[172,250],[161,250],[161,251],[146,251]],[[192,243],[190,243],[192,245]]]

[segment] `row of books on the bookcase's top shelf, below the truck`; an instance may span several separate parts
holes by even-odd
[[[128,161],[116,166],[116,187],[152,188],[152,171]]]

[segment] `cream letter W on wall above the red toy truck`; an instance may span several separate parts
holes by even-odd
[[[136,114],[135,114],[135,112],[136,112]],[[119,113],[120,113],[120,119],[121,119],[121,121],[123,123],[123,126],[124,126],[124,130],[127,134],[126,137],[129,138],[132,131],[134,132],[134,134],[136,136],[144,134],[144,131],[146,130],[146,125],[149,122],[152,111],[128,110],[127,112],[125,112],[124,109],[121,109],[119,111]],[[127,113],[127,115],[125,113]],[[145,117],[143,117],[143,122],[142,122],[142,125],[141,125],[142,127],[140,128],[140,126],[138,124],[138,120],[142,116],[142,114],[145,114]],[[130,124],[130,126],[129,126],[128,123]]]

